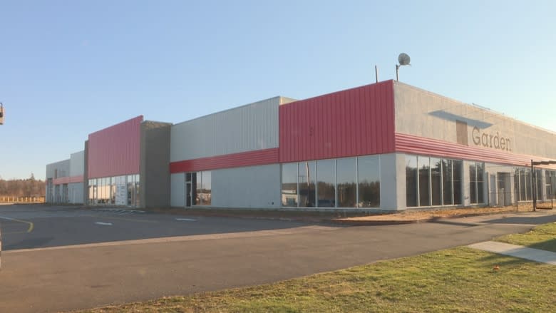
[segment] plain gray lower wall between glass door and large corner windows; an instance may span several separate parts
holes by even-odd
[[[212,170],[211,180],[213,207],[277,209],[281,205],[279,164]]]

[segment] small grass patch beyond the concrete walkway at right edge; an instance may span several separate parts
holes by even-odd
[[[556,222],[537,226],[525,234],[498,237],[495,241],[556,252]]]

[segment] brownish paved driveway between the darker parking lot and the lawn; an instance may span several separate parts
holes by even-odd
[[[222,227],[237,222],[218,220]],[[215,228],[202,235],[11,250],[2,255],[0,312],[56,312],[263,284],[468,245],[555,220],[552,212],[361,227],[242,220],[254,229],[227,232],[207,223]],[[255,226],[271,222],[274,227]]]

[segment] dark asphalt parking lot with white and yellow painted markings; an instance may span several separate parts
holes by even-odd
[[[164,215],[117,207],[0,205],[2,250],[34,249],[158,237],[280,230],[307,225],[195,215]]]

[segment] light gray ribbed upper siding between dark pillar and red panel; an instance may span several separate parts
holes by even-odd
[[[170,162],[278,147],[274,97],[172,126]]]

